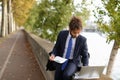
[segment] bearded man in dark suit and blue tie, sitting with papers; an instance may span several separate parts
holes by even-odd
[[[88,66],[88,48],[86,38],[80,35],[81,31],[81,20],[74,16],[69,23],[69,30],[59,33],[49,59],[53,61],[55,56],[60,56],[68,60],[63,64],[57,64],[54,80],[71,80],[72,75],[81,65],[80,62],[83,66]]]

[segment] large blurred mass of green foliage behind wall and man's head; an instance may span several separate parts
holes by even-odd
[[[27,29],[31,28],[32,32],[40,37],[54,42],[59,31],[68,27],[72,13],[83,16],[82,11],[75,10],[73,0],[41,0],[31,10],[25,26]],[[87,10],[85,9],[84,12],[86,13]]]

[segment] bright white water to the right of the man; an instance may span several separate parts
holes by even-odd
[[[97,33],[83,32],[87,38],[88,51],[90,53],[90,66],[105,65],[107,66],[110,52],[113,46],[113,42],[106,43],[106,38],[100,36]],[[118,51],[117,57],[115,59],[115,64],[112,70],[112,79],[120,80],[120,50]],[[105,71],[104,71],[105,73]]]

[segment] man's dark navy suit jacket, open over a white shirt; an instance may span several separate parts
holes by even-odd
[[[67,36],[69,34],[68,30],[61,31],[58,35],[56,44],[53,48],[52,53],[55,56],[63,56]],[[89,63],[88,48],[86,43],[86,38],[82,35],[79,35],[76,38],[75,49],[73,54],[73,62],[78,66],[80,61],[83,63],[83,66],[87,66]]]

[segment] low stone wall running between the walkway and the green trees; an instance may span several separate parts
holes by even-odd
[[[54,80],[54,72],[46,71],[46,63],[49,58],[48,53],[52,50],[53,43],[50,43],[49,41],[41,39],[40,37],[26,31],[25,34],[45,79]]]

